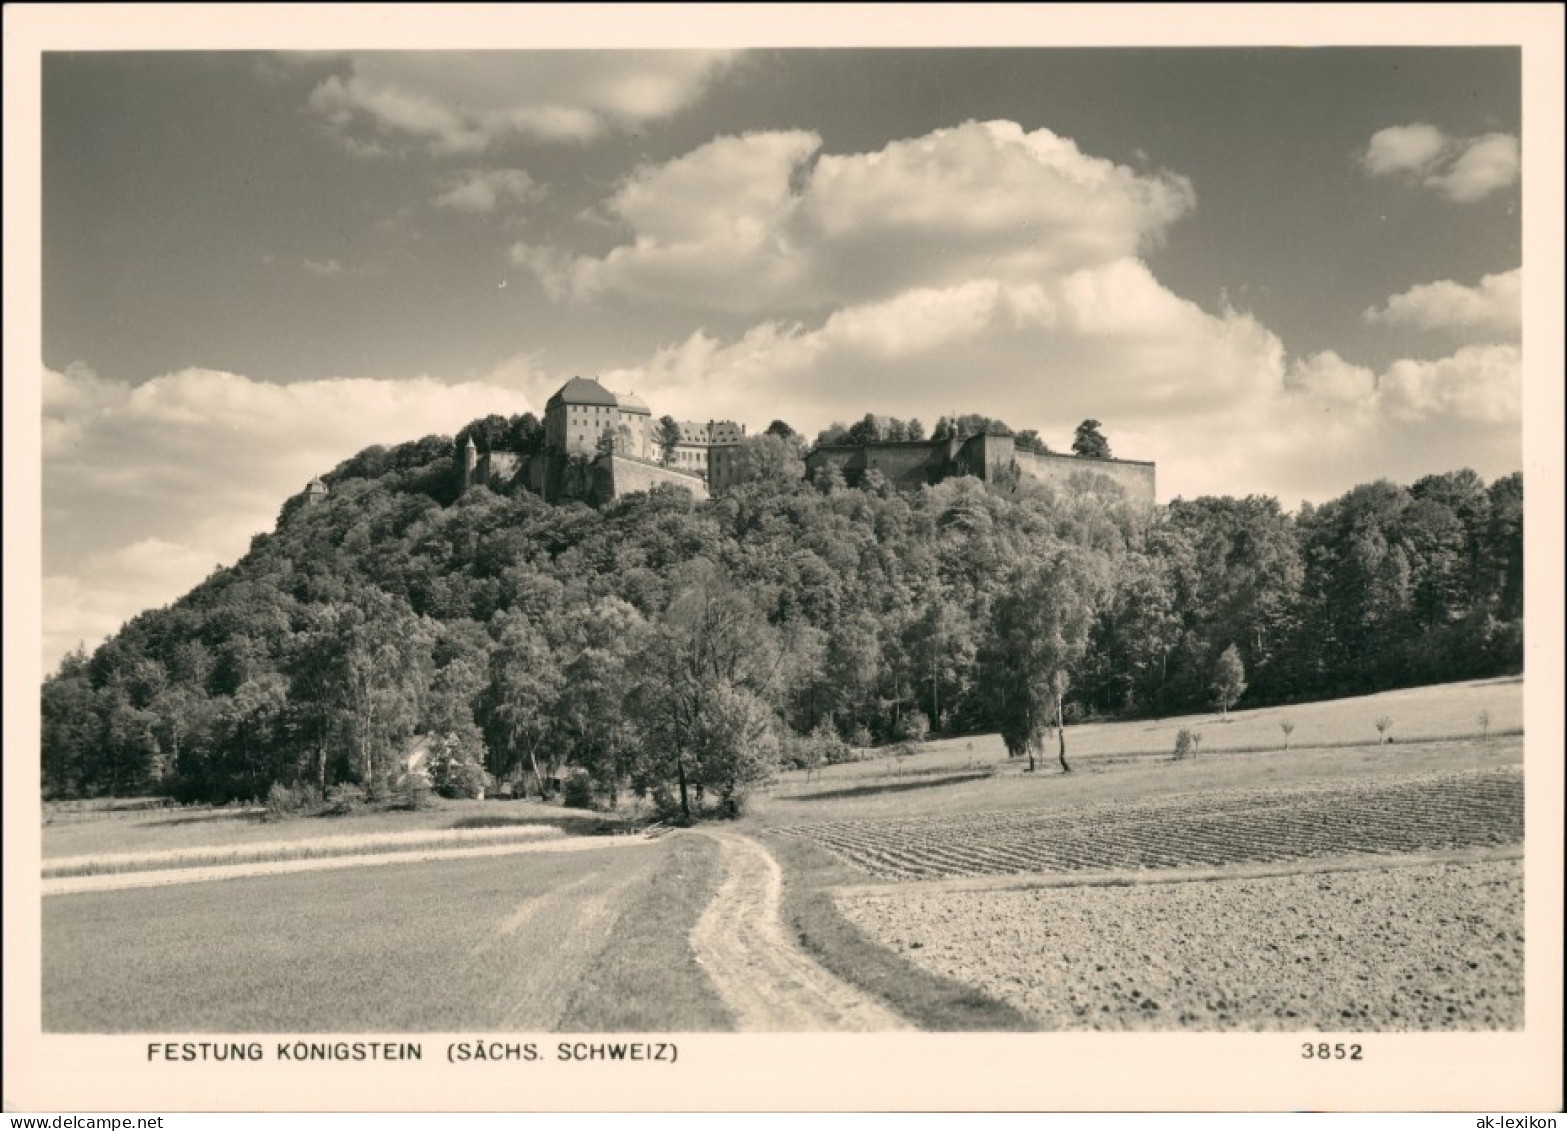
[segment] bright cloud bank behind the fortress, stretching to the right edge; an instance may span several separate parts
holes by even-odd
[[[807,432],[865,412],[983,412],[1058,451],[1084,418],[1116,454],[1158,462],[1161,498],[1269,493],[1287,506],[1355,482],[1520,465],[1520,359],[1471,346],[1374,371],[1337,354],[1290,359],[1252,316],[1211,315],[1138,260],[1051,282],[970,280],[834,312],[696,332],[605,373],[655,412],[780,417]]]

